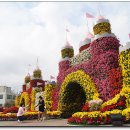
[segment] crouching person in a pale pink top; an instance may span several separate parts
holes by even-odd
[[[24,120],[24,113],[26,112],[25,108],[26,107],[24,106],[24,104],[21,103],[17,113],[18,122],[22,122]]]

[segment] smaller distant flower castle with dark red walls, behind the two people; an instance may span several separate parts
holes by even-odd
[[[29,110],[34,110],[38,96],[43,96],[45,82],[46,81],[42,79],[42,72],[37,66],[33,71],[32,76],[28,73],[25,77],[24,84],[22,86],[22,93],[16,97],[16,106],[19,106],[19,104],[23,102],[25,105],[29,104]],[[38,96],[36,95],[36,92],[39,92]]]

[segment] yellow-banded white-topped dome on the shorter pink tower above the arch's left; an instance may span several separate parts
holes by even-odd
[[[62,47],[61,56],[62,58],[71,58],[74,56],[73,46],[71,46],[68,41],[66,42],[65,46]]]

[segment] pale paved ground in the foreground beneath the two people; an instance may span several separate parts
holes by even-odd
[[[0,126],[71,126],[74,127],[76,125],[68,125],[67,119],[50,119],[50,120],[43,120],[43,121],[37,121],[37,120],[26,120],[22,123],[19,123],[17,121],[0,121]],[[106,127],[111,127],[112,125],[105,125]],[[123,126],[130,127],[130,124],[124,124]],[[84,126],[86,127],[86,126]],[[96,127],[96,126],[94,126]]]

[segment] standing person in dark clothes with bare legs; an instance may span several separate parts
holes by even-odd
[[[37,106],[39,106],[39,108],[38,108],[38,120],[41,119],[41,121],[42,121],[44,110],[45,110],[45,104],[44,104],[44,100],[43,100],[42,96],[39,96],[39,102],[38,102]]]

